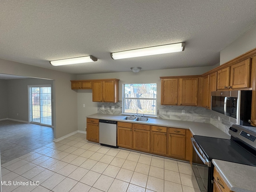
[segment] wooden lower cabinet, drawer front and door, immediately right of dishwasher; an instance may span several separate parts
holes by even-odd
[[[132,149],[132,124],[118,122],[117,145],[122,148]]]

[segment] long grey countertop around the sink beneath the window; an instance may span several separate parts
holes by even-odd
[[[138,122],[138,121],[132,121],[132,120],[122,120],[122,118],[124,118],[124,115],[111,115],[111,114],[100,114],[100,113],[89,115],[87,116],[87,118],[189,129],[193,135],[230,139],[230,135],[224,133],[223,131],[221,131],[220,129],[216,128],[215,126],[209,123],[168,120],[168,119],[158,119],[158,118],[150,118],[148,122]]]

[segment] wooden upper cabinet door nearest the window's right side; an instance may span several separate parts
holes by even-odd
[[[178,104],[178,78],[161,79],[161,104]]]

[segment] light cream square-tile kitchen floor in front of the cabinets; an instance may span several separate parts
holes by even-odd
[[[12,183],[3,192],[200,192],[190,164],[93,144],[82,133],[2,164],[2,181]]]

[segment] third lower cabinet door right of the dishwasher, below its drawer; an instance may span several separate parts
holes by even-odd
[[[150,151],[156,154],[166,155],[166,133],[161,132],[151,132],[151,148]]]

